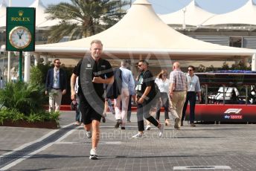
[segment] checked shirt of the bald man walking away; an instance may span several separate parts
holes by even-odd
[[[170,72],[170,83],[173,83],[173,91],[185,91],[187,90],[187,77],[184,72],[175,70]]]

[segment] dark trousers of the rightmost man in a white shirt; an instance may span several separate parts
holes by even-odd
[[[187,92],[187,97],[186,97],[186,100],[185,100],[185,103],[183,106],[183,110],[182,110],[182,121],[185,118],[188,101],[189,101],[189,105],[190,105],[189,120],[191,123],[193,123],[193,121],[195,120],[196,92],[194,92],[194,91]]]

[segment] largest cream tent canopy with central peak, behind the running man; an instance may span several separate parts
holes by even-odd
[[[103,42],[106,56],[118,58],[234,60],[253,54],[252,50],[202,42],[173,30],[159,19],[147,0],[135,1],[127,15],[112,28],[84,39],[36,45],[36,53],[83,57],[93,39]]]

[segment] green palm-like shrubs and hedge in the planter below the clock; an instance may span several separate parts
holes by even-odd
[[[30,123],[56,120],[58,123],[60,113],[45,111],[47,103],[44,86],[23,82],[7,83],[0,90],[0,123],[4,120],[27,120]]]

